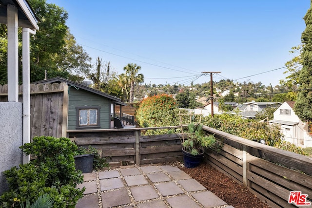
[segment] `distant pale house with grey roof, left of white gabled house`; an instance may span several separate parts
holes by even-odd
[[[243,118],[254,118],[258,112],[268,107],[279,107],[282,103],[278,102],[246,102],[239,104],[231,113],[238,113]]]

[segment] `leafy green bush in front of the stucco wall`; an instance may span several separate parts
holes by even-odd
[[[83,189],[76,189],[83,182],[81,171],[76,171],[74,151],[77,146],[68,138],[34,137],[32,143],[20,147],[37,159],[28,164],[5,170],[9,190],[0,196],[0,207],[24,206],[29,200],[49,194],[53,208],[75,208]]]

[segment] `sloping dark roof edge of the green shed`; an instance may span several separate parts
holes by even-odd
[[[85,85],[82,85],[82,84],[79,84],[77,82],[73,82],[71,80],[64,79],[64,78],[61,78],[61,77],[55,77],[55,78],[50,78],[50,79],[46,79],[46,80],[40,80],[40,81],[37,81],[37,82],[33,82],[33,84],[40,84],[40,83],[46,84],[46,83],[55,83],[55,82],[57,82],[57,83],[65,82],[69,86],[76,86],[76,87],[79,87],[80,89],[83,89],[83,90],[89,91],[91,93],[94,93],[94,94],[97,94],[97,95],[109,98],[109,99],[113,100],[114,103],[117,104],[117,105],[123,105],[123,106],[127,105],[126,103],[121,102],[121,99],[118,98],[118,97],[115,97],[113,95],[109,95],[107,93],[103,93],[103,92],[95,90],[95,89],[93,89],[91,87],[87,87]]]

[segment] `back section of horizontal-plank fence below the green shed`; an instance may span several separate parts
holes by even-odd
[[[141,130],[146,129],[69,130],[67,137],[77,145],[96,148],[111,163],[139,165],[182,161],[182,134],[141,136]]]

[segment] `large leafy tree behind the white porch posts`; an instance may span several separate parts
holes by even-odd
[[[30,38],[31,82],[60,76],[82,81],[90,69],[91,57],[79,46],[66,25],[68,13],[46,0],[29,0],[39,18],[39,30]],[[19,29],[21,34],[21,30]],[[21,35],[19,35],[19,74],[21,82]],[[0,84],[7,83],[7,26],[0,25]]]

